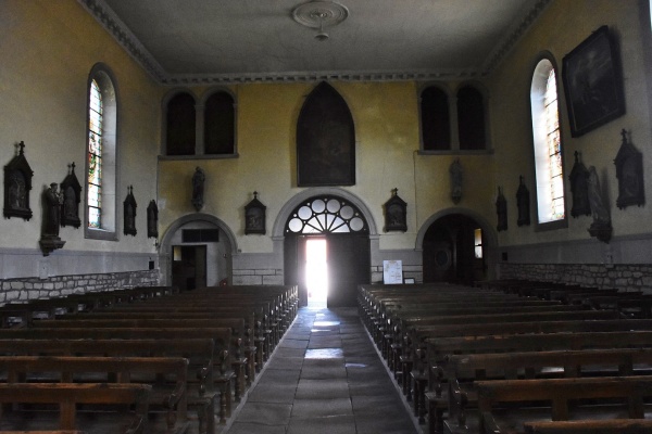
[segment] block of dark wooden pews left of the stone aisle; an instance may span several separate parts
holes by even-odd
[[[0,432],[214,434],[297,309],[297,288],[286,285],[4,305]]]

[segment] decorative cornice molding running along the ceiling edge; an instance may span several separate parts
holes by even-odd
[[[168,74],[104,0],[77,0],[125,51],[159,84],[164,86],[228,85],[250,82],[424,81],[477,78],[490,75],[525,35],[552,0],[539,0],[524,11],[501,42],[477,71],[335,71],[247,74]]]

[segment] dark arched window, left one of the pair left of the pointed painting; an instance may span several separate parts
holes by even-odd
[[[195,155],[195,98],[190,93],[178,93],[167,102],[166,108],[166,154]]]

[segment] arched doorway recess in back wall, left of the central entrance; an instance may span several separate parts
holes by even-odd
[[[195,239],[192,241],[183,241],[181,232],[186,229],[193,231]],[[204,237],[203,230],[205,229],[209,231],[216,229],[217,241],[212,238],[214,232],[210,233],[210,237]],[[175,264],[175,259],[177,259],[177,263],[183,259],[183,257],[179,257],[180,247],[177,248],[175,257],[175,246],[190,247],[185,248],[185,251],[195,250],[199,256],[205,251],[205,284],[208,286],[220,283],[230,284],[233,282],[233,256],[238,251],[236,237],[230,228],[217,217],[203,213],[189,214],[170,225],[160,245],[160,268],[161,272],[164,273],[162,280],[164,284],[168,285],[175,283],[173,275],[178,271],[180,266],[180,264]],[[179,273],[176,273],[178,280]],[[184,286],[184,284],[180,286]]]

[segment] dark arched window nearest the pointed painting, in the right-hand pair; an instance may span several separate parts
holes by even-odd
[[[451,149],[449,99],[446,92],[429,86],[421,94],[422,149],[446,151]]]

